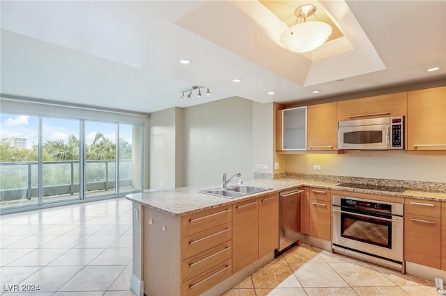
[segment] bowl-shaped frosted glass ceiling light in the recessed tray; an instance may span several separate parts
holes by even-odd
[[[328,40],[332,33],[332,27],[329,24],[319,21],[307,22],[307,17],[314,15],[315,11],[316,7],[312,4],[302,5],[294,10],[294,15],[298,19],[294,26],[287,28],[280,35],[280,42],[286,49],[304,53],[321,47]]]

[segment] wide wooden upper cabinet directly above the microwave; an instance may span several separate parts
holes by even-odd
[[[407,92],[337,102],[337,120],[406,116]]]

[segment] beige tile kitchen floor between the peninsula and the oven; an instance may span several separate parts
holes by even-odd
[[[438,296],[435,283],[309,245],[289,249],[224,296]]]

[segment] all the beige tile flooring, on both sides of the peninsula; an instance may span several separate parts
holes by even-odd
[[[131,212],[121,198],[0,216],[0,295],[134,296]],[[39,293],[8,292],[22,284]],[[300,245],[224,295],[436,296],[433,285]]]

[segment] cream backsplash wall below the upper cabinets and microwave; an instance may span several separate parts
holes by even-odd
[[[322,169],[313,170],[314,165]],[[406,151],[286,155],[286,172],[444,183],[446,156],[409,155]]]

